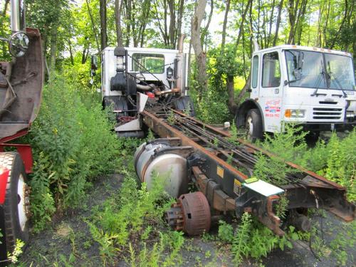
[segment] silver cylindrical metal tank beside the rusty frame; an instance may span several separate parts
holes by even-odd
[[[167,143],[144,143],[135,152],[135,169],[140,182],[147,184],[150,190],[153,186],[155,173],[164,182],[164,189],[171,197],[179,197],[187,193],[187,159],[181,155],[164,152],[169,148]]]

